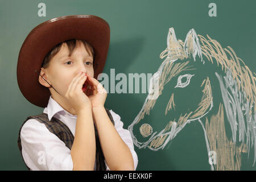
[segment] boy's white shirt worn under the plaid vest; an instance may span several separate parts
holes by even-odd
[[[123,129],[123,122],[118,114],[109,110],[115,123],[115,129],[123,142],[130,148],[134,160],[134,170],[137,168],[138,156],[134,151],[133,140],[128,130]],[[64,110],[52,96],[49,97],[48,105],[44,108],[43,113],[48,114],[48,119],[52,117],[59,119],[75,136],[77,115],[73,115]],[[36,119],[28,119],[20,131],[20,140],[22,144],[22,156],[26,165],[33,171],[38,170],[72,170],[73,162],[71,150],[55,134],[51,133],[47,127]],[[106,164],[106,160],[105,160]],[[94,170],[96,163],[94,164]],[[106,169],[109,170],[106,164]]]

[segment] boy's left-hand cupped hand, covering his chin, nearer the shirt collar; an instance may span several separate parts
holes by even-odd
[[[84,92],[82,92],[82,85],[84,84],[85,80],[86,75],[80,72],[73,78],[64,96],[77,113],[79,113],[79,111],[82,109],[88,108],[88,106],[91,107],[89,98]]]

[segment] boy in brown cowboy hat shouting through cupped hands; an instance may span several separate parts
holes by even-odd
[[[119,115],[104,107],[106,90],[94,78],[105,65],[109,32],[97,16],[71,15],[28,34],[17,80],[28,101],[45,107],[20,127],[18,146],[28,169],[136,169],[131,135]]]

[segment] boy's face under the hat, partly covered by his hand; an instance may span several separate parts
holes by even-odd
[[[72,55],[68,56],[68,46],[63,44],[60,51],[52,57],[49,63],[49,67],[46,69],[42,68],[42,75],[51,84],[57,92],[64,96],[68,90],[68,86],[73,80],[73,78],[79,73],[84,72],[87,75],[93,77],[93,57],[86,51],[85,47],[80,44],[77,45]],[[45,75],[44,75],[45,74]],[[39,82],[49,87],[46,82]],[[50,89],[52,96],[56,96],[55,90]]]

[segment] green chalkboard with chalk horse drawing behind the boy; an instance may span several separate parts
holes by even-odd
[[[255,170],[255,5],[2,0],[0,170],[26,170],[18,131],[43,111],[19,90],[19,49],[38,24],[75,14],[110,25],[105,107],[131,132],[137,170]]]

